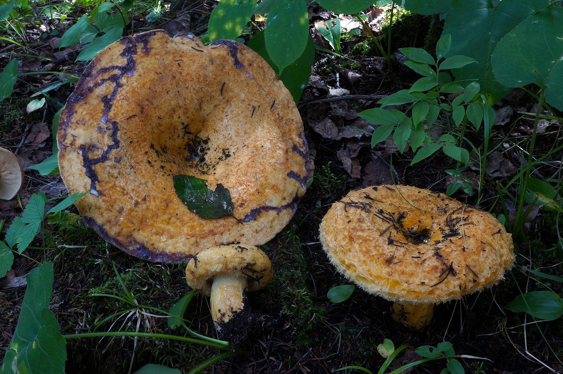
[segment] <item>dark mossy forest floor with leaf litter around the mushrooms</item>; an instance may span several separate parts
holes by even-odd
[[[184,16],[184,20],[189,15],[190,30],[201,33],[205,29],[208,11],[208,8],[200,7],[180,15]],[[314,8],[311,10],[312,13],[315,11]],[[168,24],[173,24],[175,20],[177,18],[169,20]],[[138,19],[136,27],[146,26],[144,22]],[[435,43],[435,35],[440,34],[435,29],[440,27],[439,20],[436,22],[433,17],[405,22],[410,22],[411,26],[407,23],[404,29],[399,25],[394,28],[394,35],[400,35],[394,39],[397,43],[394,50],[407,46],[431,46],[433,39]],[[413,24],[418,27],[413,28]],[[153,24],[148,26],[154,28]],[[141,29],[135,29],[135,32],[137,30]],[[58,64],[49,66],[47,70],[81,74],[86,68],[82,63],[73,62],[77,51],[72,47],[61,53],[53,48],[52,37],[41,39],[38,32],[32,31],[29,38],[34,54],[53,59],[62,57]],[[330,204],[351,189],[392,182],[445,193],[448,175],[444,170],[455,168],[452,159],[443,154],[410,166],[412,152],[400,154],[392,146],[372,149],[369,136],[347,127],[368,129],[369,124],[357,113],[375,106],[377,100],[369,95],[388,95],[408,88],[417,79],[396,59],[392,60],[391,66],[382,63],[381,57],[373,55],[374,49],[369,43],[364,52],[372,54],[353,55],[353,48],[365,43],[365,39],[352,38],[343,44],[345,52],[350,52],[351,60],[320,52],[316,55],[313,77],[298,105],[311,155],[314,156],[315,180],[301,199],[290,224],[262,246],[274,264],[275,275],[264,290],[249,295],[253,313],[260,323],[258,326],[253,324],[251,328],[242,327],[243,333],[232,339],[236,342],[238,356],[214,363],[204,372],[332,373],[345,366],[363,366],[377,372],[384,361],[377,351],[383,339],[392,340],[396,347],[406,344],[413,348],[435,346],[442,341],[452,342],[457,354],[474,357],[459,358],[467,373],[561,372],[561,319],[524,326],[524,323],[533,322],[531,317],[503,309],[520,294],[519,288],[522,292],[545,289],[542,283],[545,284],[546,279],[528,278],[520,271],[521,266],[530,267],[533,262],[534,268],[541,267],[546,273],[561,275],[561,249],[556,248],[557,223],[553,213],[540,212],[529,223],[525,238],[516,238],[516,265],[503,281],[462,300],[437,305],[432,323],[421,332],[399,326],[390,317],[389,301],[369,295],[358,287],[349,299],[341,303],[334,304],[327,299],[331,287],[348,283],[330,264],[319,243],[320,220]],[[15,51],[12,47],[10,50]],[[357,47],[356,51],[359,50],[361,48]],[[0,66],[5,66],[8,60],[9,57],[0,57]],[[19,69],[22,72],[43,70],[48,63],[31,57],[21,57],[21,61]],[[349,79],[350,70],[358,73],[360,79]],[[34,92],[30,87],[45,87],[64,78],[56,74],[26,75],[22,78],[16,83],[12,97],[0,104],[0,145],[17,152],[26,167],[41,162],[51,154],[51,121],[60,108],[56,101],[64,103],[75,83],[64,84],[51,91],[53,100],[47,100],[47,105],[37,112],[26,114],[28,97]],[[356,96],[352,99],[329,98],[328,86],[346,88],[350,95]],[[531,103],[530,97],[517,92],[496,108],[528,106],[530,109]],[[330,129],[336,129],[342,136],[330,135],[327,123]],[[491,144],[503,141],[524,144],[529,128],[522,115],[513,114],[507,124],[497,128]],[[473,133],[468,136],[474,144],[481,145],[479,135]],[[556,136],[549,133],[540,136],[536,155],[547,152]],[[504,159],[513,165],[520,164],[520,155],[503,153]],[[502,166],[498,168],[502,171]],[[556,171],[554,168],[543,166],[538,168],[537,173],[551,177]],[[473,172],[473,175],[478,174],[479,171]],[[508,171],[487,176],[481,208],[488,210],[491,207],[492,200],[488,198],[497,195],[495,183],[504,184],[512,176],[513,172]],[[41,176],[33,170],[26,170],[25,186],[20,193],[21,204],[16,199],[0,202],[2,219],[5,219],[2,233],[6,232],[12,219],[21,214],[21,207],[25,206],[30,195],[39,191],[46,193],[47,197],[66,194],[59,175]],[[469,204],[476,203],[476,194],[470,197],[458,192],[454,197]],[[497,206],[493,212],[502,211]],[[80,221],[63,226],[46,225],[43,236],[37,237],[32,245],[52,248],[47,251],[26,250],[24,254],[38,261],[53,261],[55,265],[51,308],[63,335],[91,332],[97,328],[97,331],[138,330],[189,336],[180,329],[172,331],[165,318],[153,316],[162,313],[144,307],[168,311],[189,291],[184,279],[184,264],[151,264],[128,256],[101,241],[95,231]],[[129,311],[130,305],[94,295],[104,293],[100,287],[122,291],[112,262],[137,300],[138,309]],[[26,257],[16,256],[12,270],[3,281],[24,277],[35,266]],[[0,286],[2,359],[14,333],[25,287],[0,284],[3,285]],[[549,286],[561,294],[560,284],[549,282]],[[119,311],[123,313],[98,326]],[[191,322],[190,327],[194,331],[216,337],[205,297],[194,298],[185,318]],[[217,349],[160,338],[69,339],[66,350],[66,372],[88,374],[127,373],[130,369],[135,372],[146,363],[159,363],[189,372],[220,353]],[[395,359],[392,368],[420,358],[412,350],[405,350]],[[437,360],[421,364],[413,372],[440,373],[445,367],[445,360]],[[350,369],[347,372],[359,371]]]

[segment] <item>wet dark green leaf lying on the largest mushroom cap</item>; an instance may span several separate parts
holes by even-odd
[[[173,177],[176,194],[186,207],[202,218],[220,218],[233,216],[231,194],[222,184],[217,184],[215,191],[207,188],[204,179],[189,175]]]

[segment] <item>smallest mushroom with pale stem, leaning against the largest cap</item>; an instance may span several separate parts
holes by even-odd
[[[230,244],[197,253],[186,267],[187,284],[209,296],[211,316],[221,330],[245,309],[245,293],[261,290],[272,278],[270,259],[260,248]]]

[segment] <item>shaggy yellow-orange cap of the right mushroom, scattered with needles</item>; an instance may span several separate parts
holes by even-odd
[[[503,278],[512,237],[487,212],[413,186],[348,193],[320,225],[332,264],[390,300],[459,299]]]

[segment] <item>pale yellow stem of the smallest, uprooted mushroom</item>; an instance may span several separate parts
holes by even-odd
[[[236,313],[244,309],[243,292],[248,287],[248,278],[242,273],[218,274],[211,285],[211,316],[215,328],[228,322]]]

